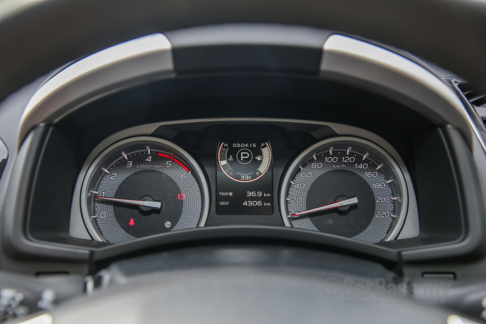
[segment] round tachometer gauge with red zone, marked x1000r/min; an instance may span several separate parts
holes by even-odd
[[[119,243],[204,225],[209,190],[195,160],[153,137],[120,141],[85,176],[83,219],[95,239]]]

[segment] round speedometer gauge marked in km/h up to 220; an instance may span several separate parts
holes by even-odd
[[[280,200],[287,226],[369,243],[395,238],[408,204],[406,182],[393,158],[354,137],[305,150],[286,173]]]

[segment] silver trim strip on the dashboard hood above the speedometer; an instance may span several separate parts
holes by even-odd
[[[443,126],[457,127],[470,147],[474,133],[486,150],[479,130],[458,95],[426,68],[382,47],[339,34],[331,35],[322,50],[320,77],[385,89],[393,93],[395,100],[396,94],[399,94],[403,101],[428,108],[415,108],[418,112],[428,113]]]

